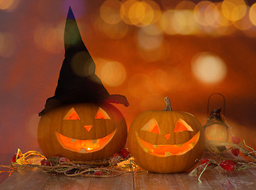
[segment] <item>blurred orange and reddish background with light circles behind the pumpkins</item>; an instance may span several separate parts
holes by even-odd
[[[128,125],[166,96],[205,124],[209,95],[222,93],[232,133],[256,148],[254,0],[0,0],[0,164],[40,150],[37,114],[57,85],[69,6],[97,75],[130,102],[117,106]]]

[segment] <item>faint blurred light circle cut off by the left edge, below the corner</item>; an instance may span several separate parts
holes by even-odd
[[[0,32],[0,57],[9,58],[15,51],[16,43],[8,32]]]

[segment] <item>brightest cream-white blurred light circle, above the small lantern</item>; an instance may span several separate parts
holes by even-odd
[[[195,55],[191,67],[196,78],[206,83],[220,82],[227,74],[224,60],[209,52],[201,52]]]

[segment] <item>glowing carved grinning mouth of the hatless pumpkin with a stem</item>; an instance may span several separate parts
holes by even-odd
[[[149,154],[158,156],[158,157],[168,157],[171,155],[181,155],[185,154],[189,150],[193,149],[196,146],[200,137],[200,131],[197,132],[189,141],[176,145],[153,145],[149,142],[144,141],[139,138],[138,133],[136,132],[136,139],[139,142],[139,146]]]

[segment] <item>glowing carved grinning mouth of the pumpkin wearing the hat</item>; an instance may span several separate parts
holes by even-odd
[[[111,141],[111,139],[113,139],[116,131],[117,129],[101,139],[88,140],[72,139],[67,136],[61,135],[58,132],[55,132],[55,135],[59,141],[59,144],[63,146],[64,149],[86,154],[103,149]]]

